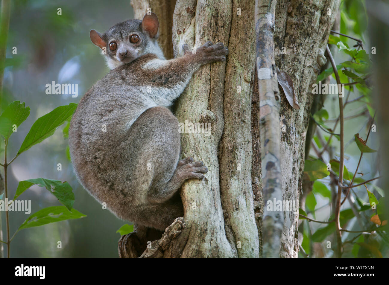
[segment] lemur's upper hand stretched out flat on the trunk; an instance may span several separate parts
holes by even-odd
[[[191,51],[187,44],[182,45],[184,54],[193,54],[196,61],[200,64],[206,64],[210,62],[226,61],[228,54],[228,48],[223,43],[218,42],[212,45],[212,42],[207,42],[196,50]]]

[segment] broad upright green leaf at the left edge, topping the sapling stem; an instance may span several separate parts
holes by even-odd
[[[30,115],[30,107],[25,107],[25,103],[20,101],[13,101],[5,108],[3,114],[0,116],[0,134],[6,140],[13,133],[13,125],[20,126]]]

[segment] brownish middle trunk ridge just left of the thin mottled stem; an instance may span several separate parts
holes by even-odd
[[[228,41],[230,54],[224,80],[224,131],[219,145],[219,163],[226,233],[231,246],[237,247],[239,257],[259,257],[258,228],[254,218],[251,186],[254,40],[253,1],[233,1]]]

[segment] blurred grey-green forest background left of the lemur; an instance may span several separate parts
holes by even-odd
[[[104,32],[133,18],[133,10],[130,1],[118,0],[114,5],[112,1],[92,0],[15,0],[11,5],[7,60],[12,66],[5,68],[3,107],[20,100],[31,108],[28,119],[11,136],[8,155],[14,157],[36,119],[60,105],[78,103],[89,87],[109,71],[100,49],[90,40],[89,31]],[[57,15],[58,8],[62,15]],[[12,54],[12,47],[17,47],[17,54]],[[53,81],[77,83],[78,97],[47,95],[45,86]],[[21,180],[44,177],[67,181],[75,194],[74,208],[87,217],[19,231],[11,243],[11,257],[118,257],[120,234],[116,231],[126,222],[103,210],[77,181],[67,159],[68,142],[62,134],[65,125],[11,164],[9,197],[14,196]],[[58,163],[62,164],[62,171],[57,170]],[[37,185],[20,199],[31,200],[31,213],[61,205],[49,191]],[[9,216],[12,236],[29,215],[10,212]],[[2,224],[5,229],[4,212]],[[61,249],[57,248],[57,241],[62,241]]]

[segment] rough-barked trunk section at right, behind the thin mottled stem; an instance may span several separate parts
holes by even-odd
[[[281,132],[282,190],[285,201],[298,201],[302,192],[305,137],[316,82],[329,31],[335,21],[339,0],[279,0],[275,16],[275,62],[293,80],[300,109],[290,107],[282,88],[280,116],[286,125]],[[331,12],[331,13],[329,13]],[[285,47],[283,49],[282,47]],[[298,256],[298,211],[285,212],[280,256]]]

